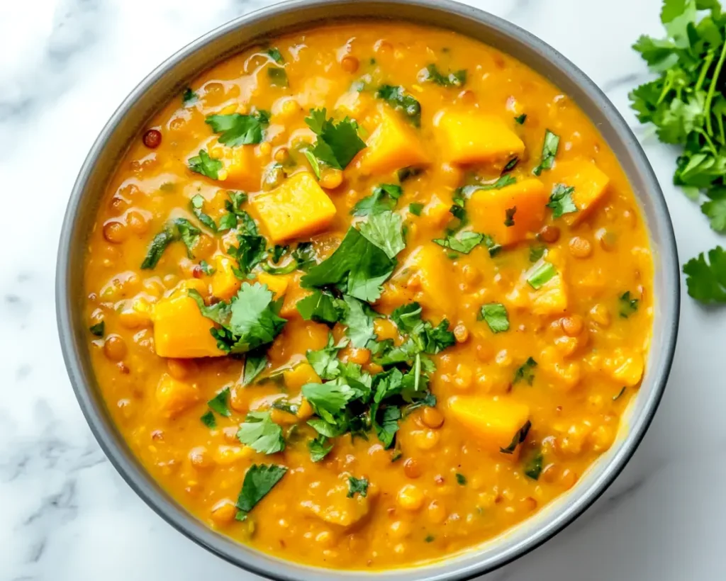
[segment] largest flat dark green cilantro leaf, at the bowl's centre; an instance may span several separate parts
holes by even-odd
[[[375,302],[382,292],[380,285],[391,276],[395,266],[396,261],[386,252],[351,227],[333,255],[312,266],[302,277],[301,285],[333,285],[356,299]]]

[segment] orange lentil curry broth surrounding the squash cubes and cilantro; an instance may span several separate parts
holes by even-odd
[[[280,51],[282,64],[268,54],[271,47]],[[439,86],[420,80],[420,71],[432,63],[444,74],[466,70],[465,83]],[[276,66],[284,67],[287,86],[272,86],[280,79],[268,70]],[[351,89],[356,82],[361,84]],[[456,344],[431,355],[436,406],[417,408],[401,419],[390,449],[373,431],[367,440],[346,434],[331,440],[333,450],[318,463],[306,445],[316,434],[304,414],[298,418],[277,410],[271,417],[284,426],[285,450],[256,453],[237,439],[237,427],[248,411],[267,409],[281,395],[294,399],[301,384],[317,381],[305,354],[325,347],[329,327],[303,321],[294,300],[290,308],[291,297],[304,296],[298,272],[287,281],[287,316],[282,316],[288,322],[269,348],[262,374],[288,368],[284,382],[242,387],[241,359],[158,356],[155,305],[179,293],[184,281],[192,281],[187,286],[209,301],[215,274],[205,273],[200,262],[219,271],[219,256],[234,244],[234,233],[213,234],[200,226],[189,200],[200,194],[204,213],[219,221],[227,211],[227,191],[270,190],[298,172],[311,172],[300,153],[301,144],[315,140],[304,121],[311,109],[326,107],[336,119],[354,118],[364,141],[384,116],[401,121],[400,111],[375,97],[376,88],[386,83],[403,86],[420,102],[420,128],[409,129],[429,163],[401,183],[403,195],[394,211],[403,218],[406,248],[374,307],[390,314],[417,300],[425,320],[434,325],[444,317],[449,321]],[[520,62],[473,39],[391,22],[285,36],[227,59],[191,88],[195,96],[187,94],[186,102],[175,97],[150,121],[148,127],[160,132],[158,147],[147,147],[140,137],[131,145],[104,194],[86,257],[86,316],[89,326],[100,321],[105,326],[103,337],[89,335],[94,370],[113,418],[150,474],[192,514],[234,539],[286,559],[346,569],[407,566],[450,555],[498,535],[573,487],[616,437],[621,414],[640,384],[653,318],[647,229],[616,157],[574,102]],[[208,115],[256,110],[269,112],[259,144],[223,147],[205,123]],[[547,195],[566,181],[558,167],[568,162],[594,162],[609,178],[605,194],[577,223],[568,223],[575,214],[554,218],[547,209],[542,228],[494,256],[483,244],[469,254],[434,244],[452,220],[455,190],[473,184],[475,176],[485,182],[498,178],[503,169],[502,160],[450,162],[449,150],[441,145],[442,110],[465,118],[479,112],[501,118],[525,146],[508,173],[518,182],[533,177],[549,129],[560,142],[554,167],[538,178]],[[520,124],[514,118],[521,115],[526,119]],[[223,160],[219,179],[187,167],[203,148]],[[244,157],[237,162],[247,168],[244,175],[235,173],[232,149],[243,152],[237,153]],[[354,204],[379,184],[399,184],[400,168],[361,169],[364,154],[343,172],[323,170],[320,184],[335,205],[335,216],[322,231],[288,242],[312,239],[318,260],[329,257],[351,219],[362,220],[351,217]],[[282,169],[272,165],[276,160]],[[410,204],[422,205],[420,215]],[[250,202],[242,207],[269,236],[256,207]],[[175,242],[155,268],[142,270],[152,238],[178,217],[203,232],[193,257]],[[544,259],[537,257],[542,248]],[[555,264],[565,308],[547,312],[547,305],[533,306],[537,299],[523,283],[523,273],[537,260]],[[630,294],[624,301],[625,292]],[[481,320],[481,306],[493,302],[505,305],[507,331],[494,333]],[[400,340],[386,318],[375,320],[375,331],[378,340]],[[332,332],[336,342],[345,337],[340,324]],[[204,340],[213,343],[210,337]],[[528,358],[537,362],[525,370],[533,376],[531,384],[527,374],[515,381]],[[348,345],[340,360],[380,371],[365,349]],[[295,364],[298,371],[290,371]],[[164,378],[186,391],[160,395]],[[200,416],[224,387],[231,387],[232,415],[215,413],[211,429]],[[452,397],[526,406],[531,422],[526,439],[514,453],[500,452],[499,442],[492,446],[491,439],[452,413]],[[541,470],[534,471],[534,479],[531,462],[537,453]],[[237,521],[234,503],[245,472],[260,463],[287,466],[287,474],[245,521]],[[348,498],[349,475],[367,478],[365,497]]]

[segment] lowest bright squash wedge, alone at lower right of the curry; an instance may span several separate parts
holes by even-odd
[[[495,400],[479,395],[454,395],[449,397],[448,404],[454,419],[492,453],[507,448],[529,420],[529,406],[503,397]]]

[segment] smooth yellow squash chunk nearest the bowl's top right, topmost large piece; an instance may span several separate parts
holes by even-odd
[[[495,163],[524,152],[524,143],[496,115],[444,111],[437,116],[444,159],[450,163]]]

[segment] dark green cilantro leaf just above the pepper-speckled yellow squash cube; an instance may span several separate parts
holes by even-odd
[[[331,168],[344,170],[366,145],[358,135],[358,124],[354,120],[346,117],[335,123],[326,115],[325,109],[311,109],[310,117],[305,118],[305,123],[318,136],[311,153]]]

